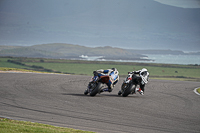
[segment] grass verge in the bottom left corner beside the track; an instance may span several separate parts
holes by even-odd
[[[94,133],[72,128],[0,118],[1,133]]]

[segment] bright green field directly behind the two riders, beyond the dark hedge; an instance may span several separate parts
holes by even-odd
[[[91,75],[92,71],[97,69],[108,69],[115,67],[118,69],[120,75],[127,75],[128,71],[139,70],[143,67],[147,68],[151,76],[184,76],[184,77],[199,77],[200,69],[191,68],[168,68],[155,66],[133,66],[133,65],[119,65],[119,64],[85,64],[85,63],[40,63],[28,62],[28,65],[42,66],[44,68],[53,69],[61,72]],[[177,71],[178,73],[176,73]]]

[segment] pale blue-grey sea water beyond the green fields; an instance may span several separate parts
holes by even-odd
[[[83,60],[96,61],[115,61],[115,62],[140,62],[140,63],[162,63],[162,64],[182,64],[182,65],[200,65],[200,55],[158,55],[147,54],[145,60],[106,60],[102,56],[85,57]],[[81,57],[81,56],[80,56]]]

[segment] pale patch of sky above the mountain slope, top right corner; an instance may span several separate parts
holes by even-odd
[[[154,1],[181,8],[200,8],[200,0],[154,0]]]

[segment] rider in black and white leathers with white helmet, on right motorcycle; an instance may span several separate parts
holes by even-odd
[[[133,76],[133,78],[136,78],[137,80],[140,80],[141,78],[143,79],[143,80],[147,80],[147,82],[148,82],[148,80],[149,80],[149,72],[147,71],[147,69],[146,68],[142,68],[141,70],[138,70],[138,71],[132,71],[132,72],[130,72],[131,74],[134,74]],[[135,75],[135,74],[138,74],[139,76],[137,76],[137,75]],[[147,76],[147,78],[144,78],[145,76]],[[144,87],[145,87],[145,84],[140,84],[140,88],[136,88],[136,90],[135,90],[135,93],[136,92],[139,92],[141,95],[144,95]]]

